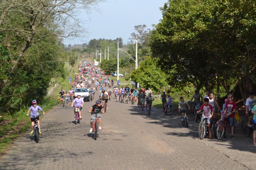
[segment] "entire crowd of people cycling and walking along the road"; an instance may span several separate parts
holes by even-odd
[[[110,99],[110,96],[112,96],[112,93],[114,93],[115,98],[119,99],[122,98],[125,101],[128,100],[128,97],[130,96],[129,100],[133,100],[134,103],[139,105],[140,102],[145,103],[145,106],[147,108],[148,103],[152,104],[152,101],[154,101],[154,97],[152,96],[152,90],[150,87],[148,89],[144,89],[141,87],[139,90],[137,88],[130,88],[128,85],[125,87],[122,86],[120,88],[120,80],[116,81],[116,84],[114,83],[114,80],[110,80],[110,76],[105,75],[105,71],[101,70],[99,67],[95,67],[93,63],[89,63],[86,65],[86,63],[82,63],[78,65],[79,72],[74,73],[75,80],[73,81],[73,85],[70,88],[68,92],[65,92],[63,88],[61,88],[60,92],[57,95],[61,96],[62,102],[67,103],[67,106],[69,106],[69,101],[74,98],[74,92],[76,88],[86,87],[88,91],[91,93],[91,95],[95,96],[98,85],[100,85],[99,89],[99,99],[102,100],[102,105],[104,106],[106,104],[106,109],[108,110],[108,100]],[[68,79],[69,84],[71,84],[71,77]],[[105,88],[104,85],[105,84]],[[249,121],[247,123],[248,127],[252,127],[254,130],[253,132],[253,144],[256,145],[256,97],[253,92],[249,92],[249,97],[247,98],[245,102],[245,114],[249,116]],[[80,95],[77,95],[77,97],[73,100],[71,107],[79,107],[79,118],[81,117],[81,110],[84,106],[84,100],[80,98]],[[92,100],[93,100],[92,98]],[[165,109],[172,106],[172,102],[174,101],[174,98],[170,96],[170,94],[165,94],[165,92],[162,92],[162,95],[160,97],[162,100],[162,109],[166,111]],[[101,101],[96,100],[95,105],[90,107],[88,110],[89,112],[95,112],[96,114],[99,114],[97,117],[99,119],[99,129],[101,129],[101,115],[100,112],[104,113],[104,109],[101,105]],[[234,98],[232,94],[228,95],[228,98],[225,99],[225,103],[223,104],[222,108],[220,108],[217,100],[214,97],[213,92],[206,92],[206,95],[203,97],[197,90],[195,90],[195,93],[193,94],[190,101],[194,100],[195,105],[192,107],[192,111],[194,111],[195,106],[198,108],[197,112],[203,112],[208,126],[209,131],[209,138],[212,138],[211,135],[211,120],[214,118],[215,112],[218,110],[223,113],[221,115],[222,120],[224,117],[225,119],[228,119],[229,126],[231,127],[231,138],[234,139],[234,123],[235,123],[235,113],[236,113],[236,102],[234,101]],[[33,127],[34,127],[34,121],[35,116],[38,115],[38,111],[42,110],[41,107],[37,106],[36,100],[33,100],[32,106],[29,107],[28,113],[31,111],[31,127],[32,131],[30,134],[33,133]],[[180,97],[180,102],[178,104],[178,111],[181,113],[181,121],[184,121],[184,112],[186,110],[190,110],[190,106],[187,101],[184,100],[184,97]],[[44,112],[43,112],[44,113]],[[33,117],[32,117],[33,116]],[[91,127],[90,132],[92,132],[92,122],[94,121],[95,114],[92,114],[91,117]],[[202,116],[203,119],[203,116]],[[219,121],[220,121],[219,120]],[[218,122],[219,122],[218,121]],[[217,123],[218,123],[217,122]],[[252,123],[251,123],[252,122]],[[39,124],[39,117],[38,117],[38,126],[39,126],[39,133],[41,133],[40,130],[40,124]]]

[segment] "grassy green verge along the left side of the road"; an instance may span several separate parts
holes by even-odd
[[[78,71],[77,65],[78,62],[76,62],[74,64],[74,67],[70,69],[63,82],[60,82],[59,87],[53,90],[50,97],[45,97],[43,101],[38,103],[38,105],[43,108],[44,112],[49,111],[54,105],[56,105],[56,94],[60,92],[61,87],[64,87],[65,92],[69,91],[69,88],[72,86],[72,84],[68,83],[68,78],[71,77],[71,82],[72,80],[74,81],[75,76],[72,71]],[[26,115],[27,111],[28,107],[24,106],[20,109],[20,111],[16,112],[13,115],[9,115],[6,113],[3,114],[0,118],[0,155],[8,149],[10,144],[17,137],[19,137],[20,134],[26,132],[31,127],[30,118]]]

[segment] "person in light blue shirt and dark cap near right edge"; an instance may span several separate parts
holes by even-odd
[[[249,97],[246,99],[246,102],[245,102],[245,114],[250,115],[247,125],[249,127],[252,127],[251,122],[252,122],[253,114],[251,112],[252,112],[252,108],[256,105],[256,96],[254,95],[254,92],[249,92],[248,95]]]

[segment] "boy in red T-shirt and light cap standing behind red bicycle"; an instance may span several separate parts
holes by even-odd
[[[226,112],[228,115],[225,116],[226,119],[228,119],[228,124],[231,127],[231,138],[234,138],[234,119],[235,119],[235,113],[236,113],[236,102],[233,101],[232,94],[228,94],[228,102],[226,103]]]

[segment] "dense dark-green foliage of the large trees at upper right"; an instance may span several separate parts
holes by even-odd
[[[169,85],[226,94],[239,86],[242,96],[256,89],[256,2],[169,0],[161,11],[149,46]]]

